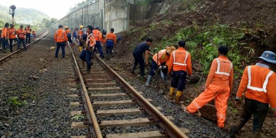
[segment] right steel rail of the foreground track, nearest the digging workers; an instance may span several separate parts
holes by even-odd
[[[120,83],[125,87],[127,91],[135,97],[136,102],[145,107],[145,111],[153,116],[155,122],[163,129],[164,133],[167,133],[171,138],[187,138],[188,136],[180,131],[169,119],[167,119],[163,113],[157,110],[150,102],[146,100],[141,94],[136,91],[130,84],[128,84],[118,73],[116,73],[111,67],[109,67],[105,62],[98,56],[95,56],[107,69],[113,74]],[[165,129],[165,130],[164,130]]]

